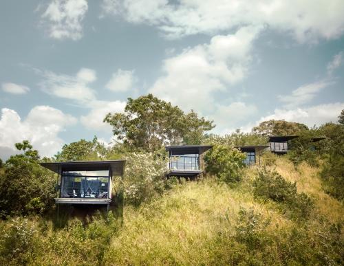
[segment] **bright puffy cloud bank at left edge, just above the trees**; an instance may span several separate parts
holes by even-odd
[[[65,126],[76,123],[76,118],[49,106],[36,106],[25,120],[12,110],[1,109],[0,157],[17,153],[14,144],[29,140],[42,156],[52,156],[61,149],[63,140],[58,133]]]

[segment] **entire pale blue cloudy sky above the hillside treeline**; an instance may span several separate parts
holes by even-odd
[[[0,158],[113,133],[154,96],[226,134],[270,119],[320,126],[344,109],[343,0],[0,3]]]

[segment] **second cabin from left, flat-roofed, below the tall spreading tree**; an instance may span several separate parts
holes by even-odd
[[[204,170],[203,156],[213,148],[208,145],[166,146],[169,153],[167,176],[197,177]]]

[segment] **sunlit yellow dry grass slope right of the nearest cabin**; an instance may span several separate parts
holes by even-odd
[[[252,195],[253,167],[235,188],[211,178],[186,182],[138,209],[127,207],[124,226],[111,239],[105,262],[338,263],[343,254],[336,252],[343,245],[343,234],[331,232],[330,224],[343,223],[343,205],[322,191],[316,168],[303,164],[295,170],[283,158],[276,168],[314,199],[316,207],[308,221],[292,221],[276,203],[257,201]],[[327,241],[336,237],[340,239],[335,252]]]

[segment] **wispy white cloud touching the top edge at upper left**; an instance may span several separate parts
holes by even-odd
[[[76,41],[83,36],[81,25],[88,5],[86,0],[53,0],[42,14],[51,38],[71,38]]]

